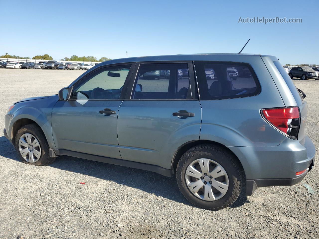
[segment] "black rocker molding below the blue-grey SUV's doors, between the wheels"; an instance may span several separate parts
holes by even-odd
[[[92,155],[92,154],[74,152],[74,151],[65,150],[65,149],[52,149],[52,151],[54,151],[54,154],[56,156],[67,155],[67,156],[71,156],[71,157],[84,158],[84,159],[88,159],[88,160],[98,161],[98,162],[102,162],[102,163],[110,163],[110,164],[125,166],[125,167],[129,167],[129,168],[134,168],[134,169],[142,169],[142,170],[147,170],[147,171],[159,173],[159,174],[164,175],[166,177],[173,177],[173,175],[174,175],[173,170],[171,170],[171,169],[165,169],[165,168],[159,167],[157,165],[152,165],[152,164],[147,164],[147,163],[138,163],[138,162],[133,162],[133,161],[129,161],[129,160],[108,158],[108,157],[97,156],[97,155]],[[50,156],[51,156],[51,150],[50,150]]]

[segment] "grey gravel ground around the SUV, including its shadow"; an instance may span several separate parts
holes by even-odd
[[[0,69],[0,115],[19,99],[56,94],[83,72]],[[318,149],[319,81],[294,83],[307,94],[307,134]],[[0,238],[319,238],[317,167],[297,185],[259,188],[212,212],[156,173],[67,156],[23,164],[2,131],[0,159]]]

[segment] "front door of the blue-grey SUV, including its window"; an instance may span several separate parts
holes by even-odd
[[[73,86],[69,100],[56,103],[52,111],[56,148],[121,159],[117,115],[130,68],[127,64],[97,69]]]

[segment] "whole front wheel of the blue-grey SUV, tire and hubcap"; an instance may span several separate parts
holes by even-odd
[[[23,163],[44,166],[55,161],[49,156],[48,141],[37,124],[25,125],[18,130],[15,147]]]

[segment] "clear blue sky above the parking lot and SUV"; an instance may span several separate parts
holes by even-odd
[[[319,64],[317,0],[9,2],[0,0],[0,55],[58,60],[123,58],[126,51],[129,57],[237,53],[250,38],[243,53],[275,55],[282,64]],[[238,23],[240,17],[302,23]]]

